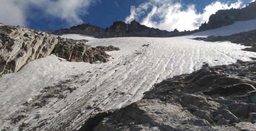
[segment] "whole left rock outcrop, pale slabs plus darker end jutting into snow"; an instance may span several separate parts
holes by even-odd
[[[20,26],[0,26],[0,74],[17,72],[29,61],[55,53],[71,62],[107,62],[109,55],[103,49],[115,47],[90,47],[88,40],[53,37],[45,32]]]

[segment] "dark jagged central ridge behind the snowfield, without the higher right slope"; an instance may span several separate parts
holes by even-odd
[[[100,27],[82,24],[73,26],[70,29],[61,29],[52,32],[55,35],[62,34],[81,34],[81,35],[91,35],[96,38],[112,38],[112,37],[175,37],[181,35],[189,35],[198,32],[194,31],[184,31],[179,32],[178,30],[166,31],[159,30],[141,25],[137,21],[132,21],[131,24],[126,24],[122,21],[114,22],[110,27],[102,29]]]

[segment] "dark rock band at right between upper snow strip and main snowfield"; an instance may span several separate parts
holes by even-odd
[[[197,37],[197,38],[194,38],[194,40],[204,40],[207,42],[230,41],[231,43],[250,46],[242,50],[256,52],[256,30],[252,30],[249,32],[242,32],[239,34],[234,34],[229,36]]]

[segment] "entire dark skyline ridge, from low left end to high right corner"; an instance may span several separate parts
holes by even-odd
[[[223,26],[234,24],[237,21],[256,19],[256,2],[249,3],[248,6],[241,9],[218,10],[215,14],[209,17],[208,23],[202,23],[199,29],[189,31],[173,31],[160,30],[141,25],[136,20],[130,24],[122,21],[113,22],[110,27],[106,29],[95,25],[81,24],[73,26],[69,29],[55,30],[52,34],[81,34],[91,35],[95,38],[112,38],[112,37],[176,37],[183,35],[190,35],[196,32],[220,28]],[[246,14],[246,15],[244,15]]]

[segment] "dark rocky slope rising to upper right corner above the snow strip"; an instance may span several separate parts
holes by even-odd
[[[209,22],[199,27],[199,30],[211,30],[226,25],[234,24],[237,21],[256,19],[256,2],[249,3],[247,7],[241,9],[218,10],[209,17]]]

